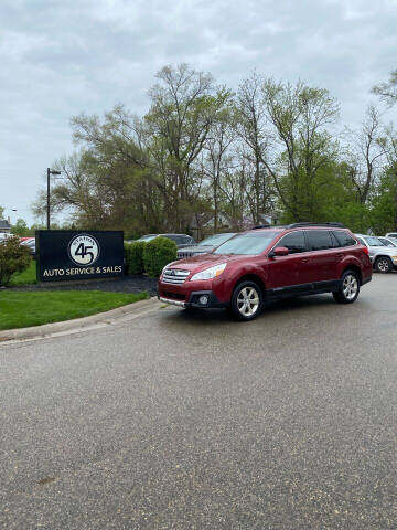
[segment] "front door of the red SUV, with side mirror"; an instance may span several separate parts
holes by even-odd
[[[308,283],[310,253],[303,230],[289,232],[277,242],[275,247],[278,246],[287,247],[289,254],[269,257],[267,263],[269,289],[275,294],[304,290],[304,284]],[[269,254],[271,256],[271,251]]]

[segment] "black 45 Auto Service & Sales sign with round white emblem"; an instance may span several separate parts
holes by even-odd
[[[124,233],[37,230],[40,282],[117,277],[124,274]]]

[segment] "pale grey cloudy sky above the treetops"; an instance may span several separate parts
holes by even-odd
[[[33,222],[71,116],[142,113],[155,72],[187,62],[235,88],[254,68],[326,87],[355,126],[397,67],[396,0],[1,0],[0,205]]]

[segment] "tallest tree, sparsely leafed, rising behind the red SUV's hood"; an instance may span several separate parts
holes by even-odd
[[[165,223],[184,231],[203,184],[198,157],[228,92],[215,89],[210,74],[186,64],[164,66],[157,77],[144,117],[147,147],[163,194]]]

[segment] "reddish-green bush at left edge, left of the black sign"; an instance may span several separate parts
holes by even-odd
[[[0,242],[0,285],[7,285],[14,273],[25,271],[32,258],[19,237],[7,237]]]

